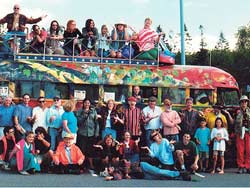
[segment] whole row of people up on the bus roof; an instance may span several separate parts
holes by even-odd
[[[3,37],[4,46],[8,51],[8,41],[17,35],[21,38],[20,48],[24,51],[25,38],[31,40],[28,52],[46,53],[58,55],[96,56],[112,58],[129,58],[140,54],[141,58],[156,59],[159,42],[162,33],[151,29],[152,20],[146,18],[144,28],[136,32],[132,27],[120,21],[113,26],[111,34],[107,25],[101,26],[101,32],[95,27],[93,19],[87,19],[85,26],[80,31],[75,20],[69,20],[63,31],[57,20],[51,21],[48,31],[37,25],[45,16],[39,18],[27,18],[20,14],[20,5],[13,7],[14,12],[0,19],[0,24],[7,23],[8,32]],[[26,24],[34,24],[31,33],[24,33]],[[133,34],[129,34],[128,28]],[[131,48],[128,42],[132,41]],[[144,52],[147,52],[144,54]],[[138,57],[139,58],[139,57]]]

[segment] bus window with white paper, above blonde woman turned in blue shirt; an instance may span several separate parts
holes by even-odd
[[[98,101],[99,95],[99,86],[98,85],[71,85],[70,86],[70,95],[73,97],[77,97],[76,93],[81,92],[85,93],[85,97],[90,99],[91,101]],[[79,98],[83,100],[84,98]]]

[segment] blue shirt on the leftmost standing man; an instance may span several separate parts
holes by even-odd
[[[13,126],[13,115],[15,106],[0,106],[0,127]]]

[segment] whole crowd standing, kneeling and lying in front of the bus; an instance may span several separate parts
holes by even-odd
[[[172,110],[169,99],[163,101],[163,108],[156,105],[155,96],[144,107],[141,99],[138,86],[121,108],[116,108],[113,99],[97,108],[85,98],[82,108],[75,109],[74,100],[62,105],[59,96],[49,108],[44,97],[31,108],[29,94],[18,105],[6,97],[0,105],[2,168],[23,175],[37,171],[80,174],[88,169],[106,180],[191,180],[188,172],[208,170],[212,148],[210,172],[223,174],[228,127],[234,124],[238,173],[250,173],[247,96],[241,97],[235,120],[229,112],[222,113],[219,105],[201,116],[193,109],[192,98],[186,99],[186,108],[180,112]]]

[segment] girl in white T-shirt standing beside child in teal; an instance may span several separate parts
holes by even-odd
[[[229,138],[228,138],[228,132],[224,128],[224,124],[220,117],[217,117],[215,119],[215,128],[212,129],[211,140],[214,141],[214,145],[213,145],[214,164],[213,164],[213,170],[211,174],[215,173],[218,155],[220,155],[220,159],[221,159],[221,171],[219,171],[219,174],[224,174],[224,165],[225,165],[224,152],[226,150],[225,140],[229,140]]]

